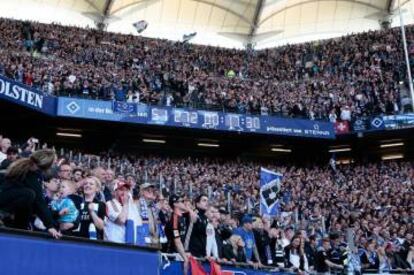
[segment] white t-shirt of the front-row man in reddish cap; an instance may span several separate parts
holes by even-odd
[[[115,221],[122,212],[122,205],[119,201],[113,199],[106,203],[108,211],[105,219],[104,240],[125,243],[125,225],[119,225]]]

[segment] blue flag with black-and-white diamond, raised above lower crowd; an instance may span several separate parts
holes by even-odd
[[[265,168],[260,168],[260,214],[277,216],[280,213],[278,193],[283,175]]]

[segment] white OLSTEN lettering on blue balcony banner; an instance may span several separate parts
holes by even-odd
[[[18,85],[13,85],[3,79],[0,79],[0,94],[4,94],[9,98],[21,101],[39,109],[43,108],[43,95],[34,93]]]

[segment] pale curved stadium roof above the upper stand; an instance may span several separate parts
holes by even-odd
[[[413,3],[400,0],[407,23]],[[393,18],[398,0],[2,0],[0,16],[77,26],[108,24],[108,31],[182,39],[197,32],[194,43],[257,48],[379,29]],[[399,23],[394,18],[393,25]]]

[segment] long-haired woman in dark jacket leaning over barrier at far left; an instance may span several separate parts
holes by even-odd
[[[36,214],[53,237],[61,236],[53,227],[52,213],[42,189],[43,174],[52,167],[55,159],[53,150],[43,149],[15,161],[6,171],[5,184],[0,192],[0,209],[14,214],[12,227],[27,229],[30,218]]]

